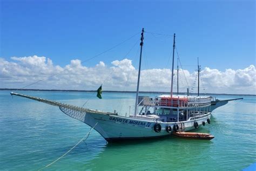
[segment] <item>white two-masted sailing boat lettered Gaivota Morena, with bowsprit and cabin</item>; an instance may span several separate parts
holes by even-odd
[[[89,108],[63,104],[30,95],[13,92],[11,92],[11,95],[58,106],[60,111],[91,126],[109,142],[127,139],[160,138],[171,135],[172,132],[188,131],[196,129],[201,125],[205,126],[206,122],[210,124],[211,97],[173,95],[173,74],[170,95],[162,95],[156,98],[138,95],[143,40],[144,29],[142,29],[140,37],[140,60],[136,103],[133,115],[124,117],[117,113],[91,110]],[[172,73],[174,49],[175,34],[173,37]],[[140,111],[138,110],[139,107]],[[169,109],[169,112],[165,112],[165,108]]]

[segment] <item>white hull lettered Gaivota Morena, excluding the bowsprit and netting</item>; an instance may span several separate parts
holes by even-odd
[[[185,128],[185,131],[195,129],[194,122],[198,122],[198,126],[202,125],[203,121],[211,118],[211,114],[197,120],[182,121],[182,122],[160,122],[153,120],[141,120],[130,117],[121,117],[117,115],[106,115],[102,113],[86,113],[84,123],[93,127],[107,141],[118,141],[127,139],[144,139],[144,138],[159,138],[170,135],[166,131],[166,126],[178,124],[179,128]],[[155,132],[154,125],[160,124],[161,131]]]

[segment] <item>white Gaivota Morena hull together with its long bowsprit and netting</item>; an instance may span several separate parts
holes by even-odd
[[[201,126],[203,125],[203,122],[206,123],[207,119],[211,118],[210,112],[201,112],[202,114],[196,112],[192,113],[192,115],[195,115],[194,117],[190,117],[186,121],[162,122],[156,119],[159,118],[157,115],[138,115],[137,118],[122,117],[118,116],[116,113],[90,110],[87,108],[63,104],[57,101],[32,97],[30,95],[18,93],[11,94],[58,106],[59,109],[66,115],[69,115],[69,117],[82,121],[93,127],[107,141],[159,138],[171,135],[173,129],[171,132],[167,132],[167,126],[171,126],[173,128],[174,125],[178,125],[183,131],[190,131],[191,129],[195,129],[195,122],[198,123],[198,126]],[[154,130],[154,126],[156,124],[160,124],[160,132],[156,132]]]

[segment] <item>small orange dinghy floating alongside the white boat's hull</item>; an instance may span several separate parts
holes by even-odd
[[[214,138],[211,134],[197,133],[197,132],[173,132],[174,136],[185,139],[196,139],[196,140],[211,140]]]

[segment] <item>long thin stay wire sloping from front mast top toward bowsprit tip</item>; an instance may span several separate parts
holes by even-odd
[[[91,59],[94,59],[94,58],[96,58],[96,57],[98,57],[98,56],[100,56],[100,55],[102,55],[102,54],[104,54],[104,53],[106,53],[106,52],[108,52],[108,51],[110,51],[110,50],[116,48],[116,47],[119,46],[119,45],[122,45],[123,43],[125,43],[125,42],[127,42],[128,40],[132,39],[133,37],[137,36],[138,34],[139,34],[139,32],[136,33],[135,35],[131,36],[130,38],[124,40],[123,42],[118,43],[118,44],[112,46],[111,48],[109,48],[109,49],[107,49],[107,50],[105,50],[105,51],[103,51],[103,52],[100,52],[100,53],[96,54],[95,56],[93,56],[93,57],[91,57],[91,58],[89,58],[89,59],[86,59],[86,60],[82,61],[80,64],[83,64],[83,63],[85,63],[86,61],[89,61],[89,60],[91,60]],[[22,89],[24,89],[24,88],[26,88],[26,87],[29,87],[29,86],[34,85],[34,84],[37,84],[37,83],[39,83],[39,82],[41,82],[41,81],[47,80],[48,78],[51,78],[51,77],[53,77],[53,76],[56,76],[56,75],[58,75],[58,74],[60,74],[60,73],[63,73],[63,72],[65,72],[65,71],[67,71],[67,70],[70,70],[70,69],[72,69],[73,67],[76,67],[76,66],[78,66],[78,65],[80,65],[80,64],[73,65],[73,66],[69,67],[68,69],[65,69],[65,70],[63,70],[63,71],[57,72],[57,73],[55,73],[55,74],[52,74],[52,75],[49,76],[49,77],[43,78],[43,79],[41,79],[41,80],[38,80],[38,81],[36,81],[36,82],[34,82],[34,83],[31,83],[31,84],[29,84],[29,85],[26,85],[26,86],[24,86],[24,87],[22,87],[22,88],[18,88],[17,90],[22,90]]]

